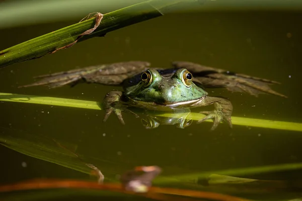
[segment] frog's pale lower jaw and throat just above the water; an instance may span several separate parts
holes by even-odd
[[[134,107],[151,109],[151,110],[175,110],[175,109],[198,107],[202,104],[205,97],[206,96],[202,96],[201,98],[188,100],[186,102],[165,103],[165,104],[158,104],[155,102],[144,102],[144,101],[134,100],[129,98],[128,104]]]

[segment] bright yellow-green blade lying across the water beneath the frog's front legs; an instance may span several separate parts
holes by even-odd
[[[100,106],[98,105],[98,102],[57,97],[44,97],[36,95],[0,93],[0,101],[101,110]],[[202,117],[204,117],[204,115],[199,113],[191,113],[191,115],[193,120],[200,120]],[[171,114],[162,114],[160,116],[171,117]],[[232,122],[234,125],[241,126],[280,129],[289,131],[302,131],[301,123],[280,122],[242,117],[232,117]]]

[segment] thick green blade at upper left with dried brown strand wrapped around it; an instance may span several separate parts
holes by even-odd
[[[153,19],[164,15],[181,3],[194,3],[193,0],[149,0],[135,4],[104,15],[101,24],[90,35],[82,37],[78,42],[92,37],[104,36],[106,33],[136,24],[142,21]],[[182,4],[181,4],[182,5]],[[83,16],[84,17],[84,16]],[[43,36],[20,43],[8,49],[0,51],[0,67],[14,63],[40,58],[54,50],[73,43],[85,31],[95,26],[95,19],[92,18]]]

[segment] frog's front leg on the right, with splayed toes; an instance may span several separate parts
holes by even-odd
[[[200,103],[199,106],[208,106],[214,104],[214,110],[213,111],[205,111],[205,112],[200,112],[202,114],[206,114],[207,116],[204,117],[203,119],[199,120],[197,123],[201,123],[205,120],[208,119],[213,119],[213,126],[211,130],[216,129],[218,124],[222,121],[226,122],[229,124],[230,128],[232,128],[232,112],[233,112],[233,106],[232,103],[224,98],[220,97],[211,97],[211,96],[206,96],[202,102]]]

